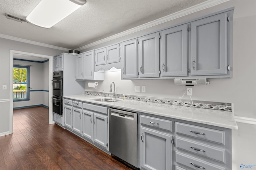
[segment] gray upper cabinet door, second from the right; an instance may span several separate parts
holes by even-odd
[[[188,25],[161,32],[162,77],[188,75]]]

